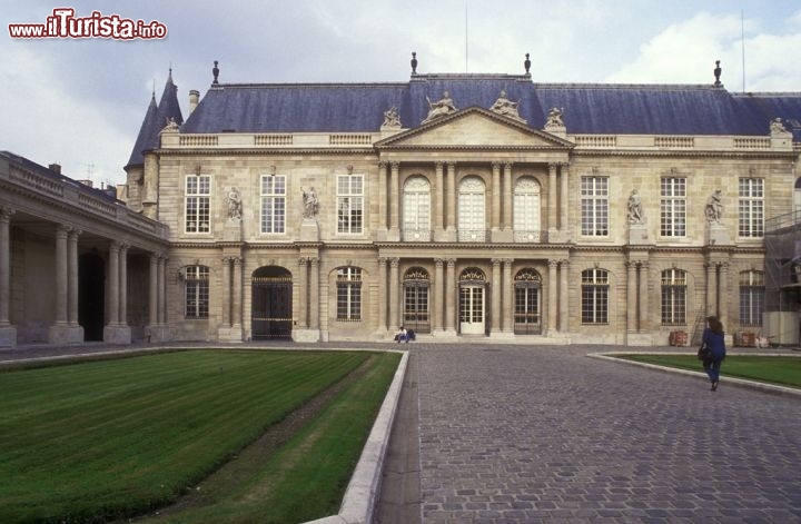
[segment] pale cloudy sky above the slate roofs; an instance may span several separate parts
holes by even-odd
[[[166,37],[11,37],[60,8]],[[6,0],[0,20],[0,150],[96,187],[125,181],[170,68],[187,118],[215,60],[221,83],[407,81],[415,51],[418,73],[523,73],[530,53],[534,82],[693,85],[720,60],[730,91],[801,92],[798,0]]]

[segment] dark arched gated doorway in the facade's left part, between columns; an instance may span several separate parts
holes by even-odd
[[[291,338],[291,274],[265,266],[253,274],[250,330],[254,340]]]

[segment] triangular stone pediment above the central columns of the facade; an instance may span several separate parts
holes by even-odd
[[[378,148],[512,147],[571,148],[573,144],[527,125],[472,107],[402,131],[376,144]]]

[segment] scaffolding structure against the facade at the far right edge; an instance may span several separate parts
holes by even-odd
[[[799,344],[801,210],[765,220],[762,326],[771,345]]]

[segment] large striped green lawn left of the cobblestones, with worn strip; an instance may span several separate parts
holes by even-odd
[[[298,435],[315,434],[316,442],[328,437],[329,428],[337,428],[326,417],[333,409],[348,421],[348,427],[338,427],[332,449],[317,452],[326,458],[346,449],[340,462],[347,471],[332,467],[338,476],[322,481],[323,507],[316,511],[323,513],[315,516],[330,507],[336,513],[398,358],[191,350],[0,373],[0,522],[105,522],[174,502],[269,426],[362,366],[363,377]],[[344,441],[355,444],[344,446]],[[295,453],[315,448],[305,446]],[[287,482],[298,483],[295,472],[287,472],[291,461],[271,463]],[[284,490],[286,482],[268,471],[270,482],[259,490]],[[309,473],[300,475],[306,485],[303,475]],[[248,482],[259,485],[258,477]],[[240,493],[247,498],[247,488]]]

